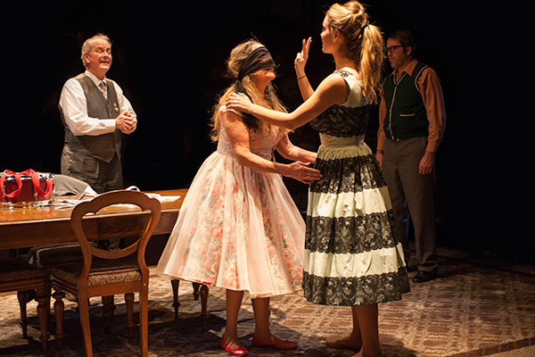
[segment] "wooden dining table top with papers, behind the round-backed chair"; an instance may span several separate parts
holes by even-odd
[[[161,201],[161,218],[153,236],[171,232],[186,193],[187,188],[145,192]],[[0,250],[77,242],[70,229],[70,213],[78,198],[54,197],[51,203],[42,206],[0,206]],[[95,239],[135,236],[141,231],[145,216],[147,213],[135,206],[111,206],[86,216],[86,235]]]

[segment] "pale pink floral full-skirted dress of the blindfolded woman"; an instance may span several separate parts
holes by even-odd
[[[273,160],[284,137],[250,132],[251,152]],[[300,290],[305,223],[280,175],[240,165],[222,126],[218,150],[197,172],[157,273],[252,298]]]

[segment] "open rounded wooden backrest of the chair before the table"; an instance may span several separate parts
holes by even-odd
[[[83,219],[87,213],[97,213],[104,207],[113,204],[135,204],[142,211],[150,211],[150,216],[146,226],[144,226],[143,233],[136,239],[136,242],[123,249],[103,250],[96,245],[89,244],[86,232],[84,231]],[[146,270],[147,268],[144,262],[145,247],[160,220],[160,215],[160,201],[138,191],[111,191],[103,195],[98,195],[91,201],[78,203],[70,214],[70,227],[78,238],[78,243],[84,256],[84,268],[79,278],[86,278],[88,275],[94,255],[103,259],[120,259],[137,252],[137,262],[142,269]]]

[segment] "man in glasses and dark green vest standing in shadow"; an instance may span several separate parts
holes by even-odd
[[[415,48],[407,30],[387,38],[386,55],[393,71],[383,81],[375,156],[390,192],[406,262],[407,222],[412,220],[418,269],[413,281],[423,283],[438,272],[432,170],[446,111],[440,79],[416,60]]]

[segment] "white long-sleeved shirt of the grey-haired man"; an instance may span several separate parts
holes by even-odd
[[[86,75],[98,87],[101,82],[96,76],[86,71],[79,74],[75,78],[71,78],[65,82],[62,88],[62,95],[60,95],[60,107],[62,108],[63,118],[72,134],[76,136],[81,135],[103,135],[112,133],[115,130],[115,119],[98,119],[91,118],[87,114],[87,102],[84,89],[78,82],[78,78]],[[130,112],[132,117],[136,119],[136,112],[125,95],[123,95],[122,89],[115,81],[111,79],[103,79],[108,85],[112,84],[117,92],[117,98],[119,100],[119,113]],[[136,125],[137,127],[137,125]],[[136,129],[136,128],[135,128]]]

